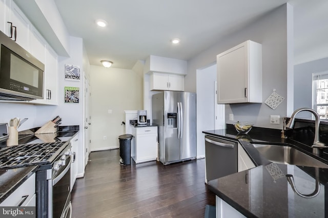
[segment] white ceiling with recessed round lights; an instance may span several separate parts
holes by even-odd
[[[126,69],[149,55],[189,60],[286,2],[294,7],[295,63],[328,57],[326,0],[55,0],[69,34],[84,39],[90,64],[106,59]],[[108,26],[96,27],[96,19]]]

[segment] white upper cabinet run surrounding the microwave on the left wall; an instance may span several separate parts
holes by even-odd
[[[13,0],[0,0],[0,30],[45,64],[44,99],[29,103],[58,105],[58,55]]]

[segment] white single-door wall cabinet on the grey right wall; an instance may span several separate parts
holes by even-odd
[[[262,102],[262,46],[245,41],[217,55],[217,103]]]

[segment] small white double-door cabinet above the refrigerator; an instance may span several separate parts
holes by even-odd
[[[183,91],[184,79],[183,75],[152,72],[150,75],[150,90]]]

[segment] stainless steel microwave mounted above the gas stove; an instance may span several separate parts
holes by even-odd
[[[0,100],[43,99],[45,65],[0,31]]]

